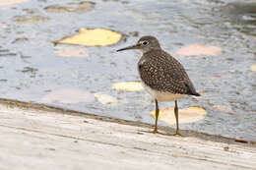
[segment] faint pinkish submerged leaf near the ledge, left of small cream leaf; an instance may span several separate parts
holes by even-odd
[[[95,95],[91,92],[79,89],[63,88],[46,94],[41,101],[47,103],[93,102],[95,101]]]

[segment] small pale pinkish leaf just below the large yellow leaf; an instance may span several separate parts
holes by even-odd
[[[85,48],[62,48],[54,51],[62,57],[87,57],[88,50]]]

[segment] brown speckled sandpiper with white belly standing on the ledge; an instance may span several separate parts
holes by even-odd
[[[129,49],[140,50],[143,55],[137,64],[142,85],[156,102],[156,122],[153,133],[158,133],[159,102],[174,101],[176,133],[180,135],[178,125],[177,100],[186,95],[200,96],[190,81],[183,66],[160,47],[159,40],[152,36],[142,36],[135,45],[118,49],[117,52]]]

